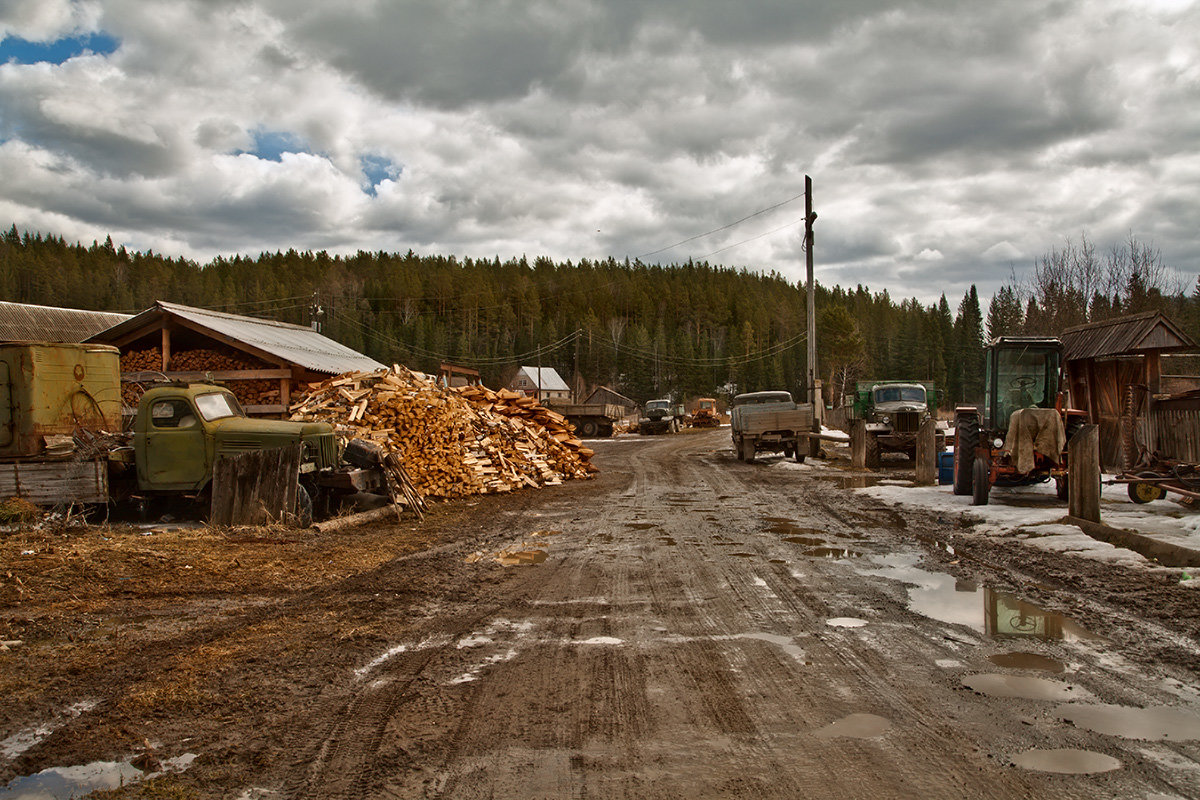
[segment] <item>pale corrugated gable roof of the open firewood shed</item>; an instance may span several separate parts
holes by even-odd
[[[247,344],[290,363],[313,372],[337,375],[343,372],[385,368],[374,359],[352,350],[344,344],[322,336],[311,327],[277,323],[271,319],[226,314],[206,308],[192,308],[160,300],[137,317],[109,327],[91,337],[95,342],[115,342],[143,327],[154,327],[166,318],[190,323],[190,327],[212,332],[223,338]]]

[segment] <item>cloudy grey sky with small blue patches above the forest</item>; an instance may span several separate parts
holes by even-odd
[[[805,174],[829,285],[1130,233],[1192,283],[1200,2],[0,0],[5,228],[798,279]]]

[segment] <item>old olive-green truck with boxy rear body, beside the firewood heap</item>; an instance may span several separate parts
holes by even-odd
[[[332,511],[337,495],[382,487],[378,470],[340,464],[334,428],[246,416],[228,389],[154,386],[122,432],[116,348],[0,345],[0,498],[54,505],[151,505],[187,500],[203,510],[223,456],[299,444],[295,515]]]

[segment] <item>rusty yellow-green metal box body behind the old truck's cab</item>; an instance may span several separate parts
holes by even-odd
[[[0,458],[42,456],[77,429],[121,429],[120,351],[107,344],[0,344]]]

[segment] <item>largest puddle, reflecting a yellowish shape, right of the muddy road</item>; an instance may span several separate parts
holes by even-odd
[[[916,566],[920,555],[884,555],[883,566],[868,575],[916,584],[908,588],[908,608],[923,616],[952,625],[965,625],[995,639],[1033,638],[1043,640],[1099,639],[1073,620],[1043,610],[1015,595],[980,588],[944,572]]]

